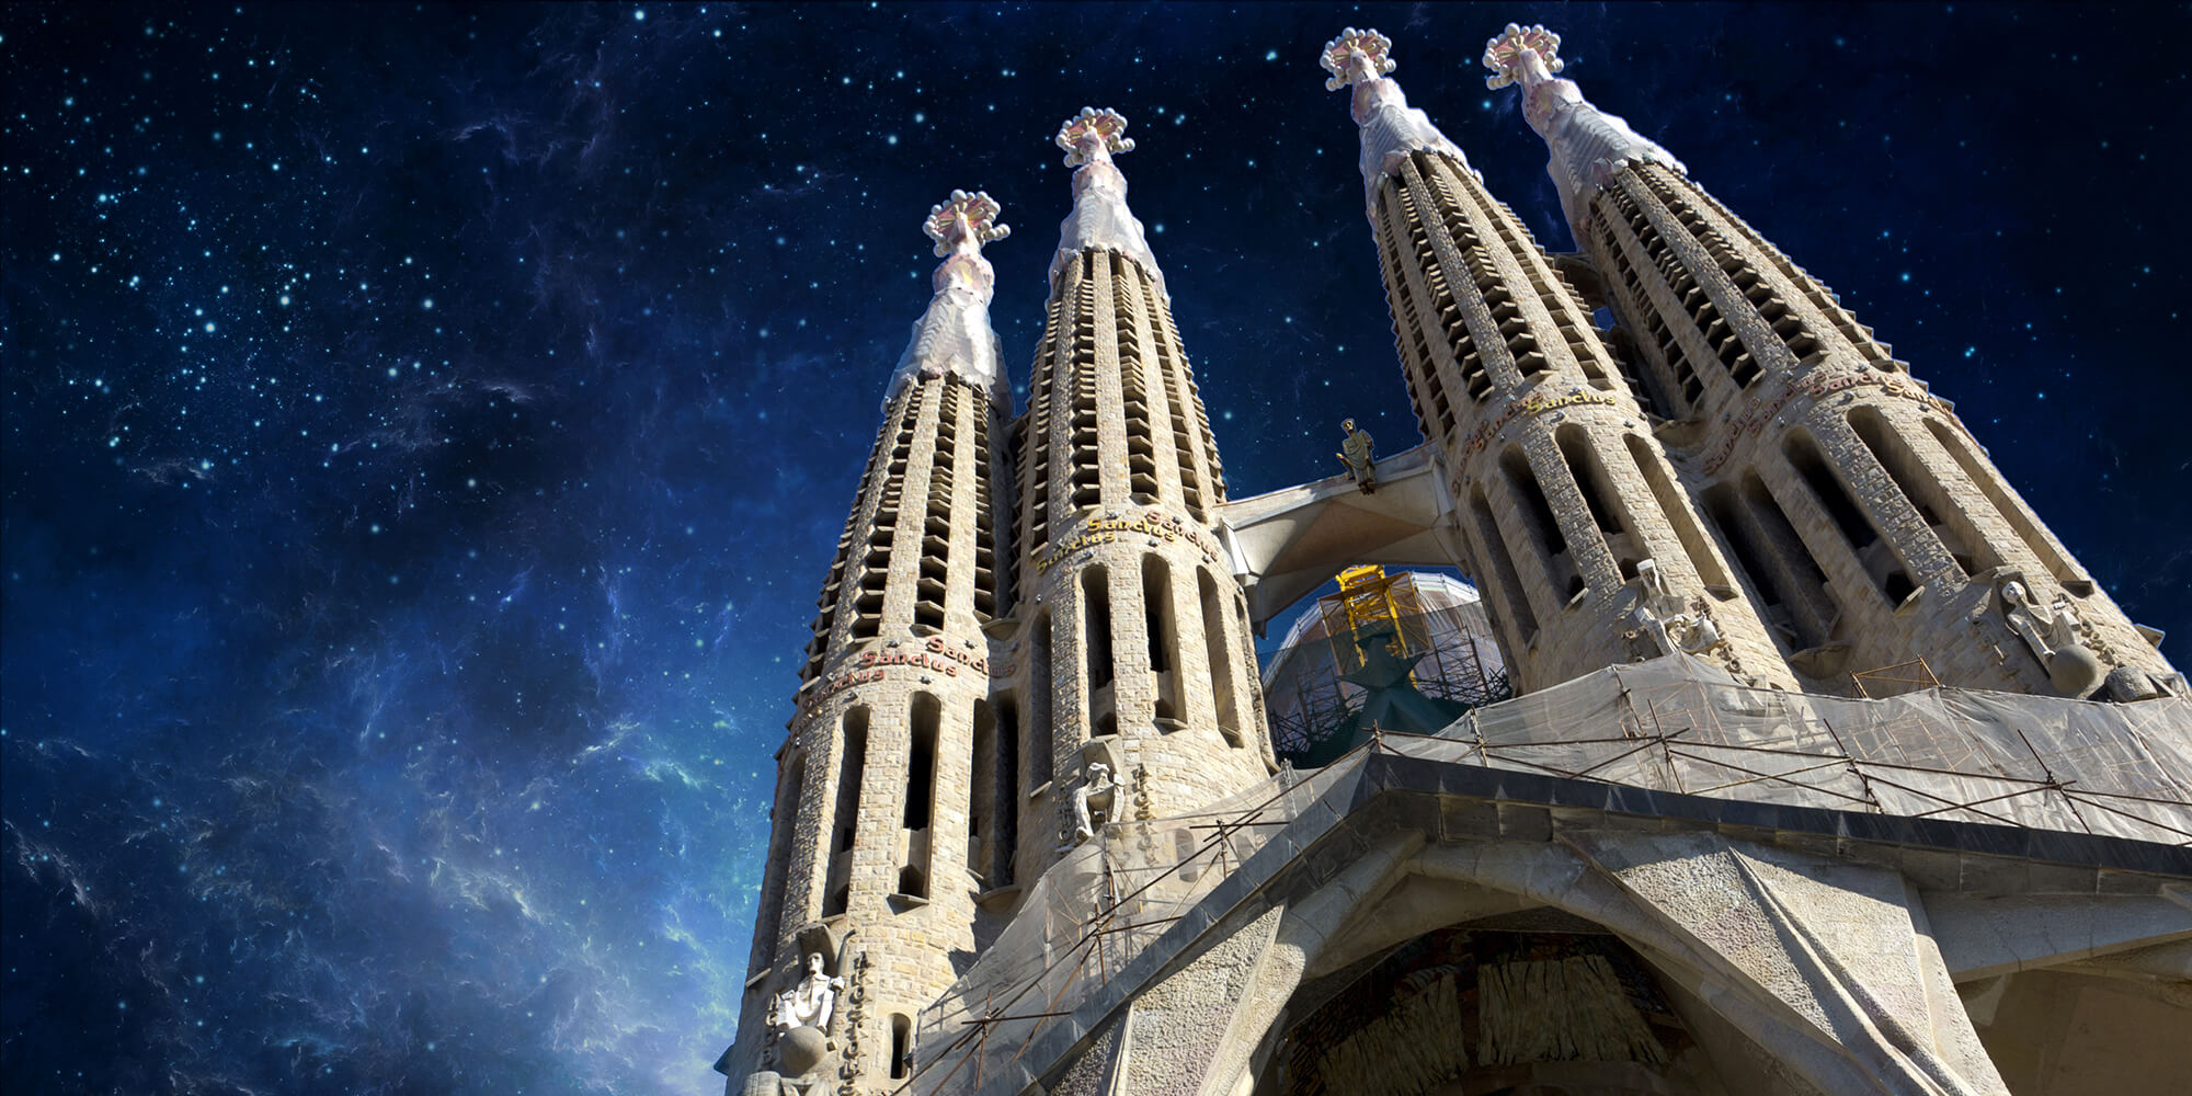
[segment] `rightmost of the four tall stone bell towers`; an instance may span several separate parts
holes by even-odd
[[[2032,513],[1951,406],[1835,294],[1559,79],[1508,24],[1569,230],[1633,335],[1655,434],[1815,690],[1925,658],[1949,686],[2144,699],[2177,671]]]

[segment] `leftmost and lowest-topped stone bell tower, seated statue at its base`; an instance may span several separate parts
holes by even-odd
[[[925,228],[936,296],[890,379],[778,752],[739,1043],[721,1063],[734,1081],[903,1081],[914,1015],[973,956],[982,857],[1011,826],[982,631],[1004,594],[993,445],[1011,408],[982,243],[1008,228],[964,191]],[[783,997],[794,986],[807,997]],[[809,1011],[822,1000],[826,1015]]]

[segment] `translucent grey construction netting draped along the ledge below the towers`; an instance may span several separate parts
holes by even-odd
[[[1046,1065],[1021,1054],[1181,921],[1228,872],[1370,752],[1690,796],[1944,818],[2192,846],[2192,701],[2091,704],[1927,688],[1887,699],[1751,688],[1670,655],[1466,712],[1440,734],[1379,734],[1201,813],[1120,822],[1028,888],[1019,914],[921,1013],[899,1092],[978,1092]],[[1320,802],[1322,800],[1322,802]]]

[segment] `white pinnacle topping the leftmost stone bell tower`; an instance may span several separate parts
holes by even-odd
[[[936,274],[929,311],[914,320],[914,338],[890,375],[883,408],[916,379],[958,375],[989,392],[991,408],[1008,408],[997,331],[989,324],[989,302],[997,296],[997,272],[982,259],[982,246],[1013,235],[997,224],[997,202],[986,191],[951,191],[929,208],[923,224],[936,241]]]

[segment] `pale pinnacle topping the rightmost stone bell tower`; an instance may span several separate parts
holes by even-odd
[[[1629,127],[1622,118],[1607,114],[1583,99],[1583,88],[1572,79],[1556,79],[1565,68],[1559,57],[1561,35],[1539,26],[1506,24],[1497,37],[1484,44],[1484,85],[1499,90],[1521,83],[1521,112],[1530,129],[1545,138],[1552,160],[1545,173],[1561,191],[1561,210],[1567,228],[1578,241],[1587,239],[1591,219],[1591,197],[1613,180],[1624,164],[1655,162],[1688,175],[1690,169]]]

